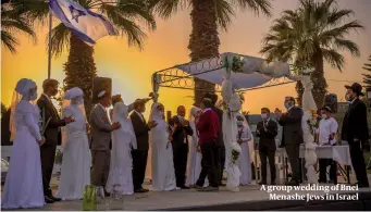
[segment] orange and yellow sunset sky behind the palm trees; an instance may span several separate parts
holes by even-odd
[[[345,53],[346,65],[343,73],[325,65],[327,79],[361,82],[361,67],[371,54],[371,1],[370,0],[338,0],[339,8],[350,9],[355,18],[366,27],[363,32],[353,33],[349,38],[360,47],[361,57],[350,58]],[[296,0],[274,0],[273,16],[257,17],[251,11],[239,11],[228,32],[221,32],[220,52],[236,52],[261,57],[259,50],[261,40],[268,33],[272,21],[280,16],[285,9],[295,9]],[[189,61],[188,39],[190,34],[189,11],[185,10],[168,21],[157,20],[157,30],[148,33],[148,39],[143,51],[128,48],[125,38],[104,37],[95,46],[95,62],[99,76],[113,79],[113,93],[121,93],[124,101],[129,103],[139,97],[147,97],[151,89],[150,76],[154,71],[163,70],[175,64]],[[1,50],[1,100],[10,104],[14,86],[20,78],[32,78],[39,85],[47,77],[47,27],[37,29],[38,42],[35,45],[26,37],[20,36],[21,47],[17,54]],[[66,62],[67,49],[52,60],[52,78],[62,82],[64,74],[62,64]],[[329,80],[330,92],[344,96],[346,82]],[[193,102],[187,96],[193,91],[160,88],[160,101],[166,110],[175,111],[178,104],[189,107]],[[272,110],[283,108],[285,96],[295,96],[295,84],[280,87],[248,91],[246,93],[245,111],[256,113],[262,107]]]

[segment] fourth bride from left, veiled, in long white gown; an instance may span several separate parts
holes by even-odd
[[[175,171],[173,162],[173,149],[169,142],[169,128],[164,120],[164,108],[161,103],[153,103],[150,121],[158,125],[149,132],[149,142],[152,148],[152,190],[175,190]]]

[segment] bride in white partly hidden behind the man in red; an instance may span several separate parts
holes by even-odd
[[[198,134],[196,133],[196,122],[198,116],[201,114],[202,110],[193,107],[189,112],[189,126],[195,132],[193,136],[188,136],[189,140],[189,153],[188,153],[188,161],[187,161],[187,179],[186,179],[186,186],[195,186],[197,183],[197,179],[201,173],[201,159],[202,154],[201,152],[197,151],[198,146]],[[208,187],[209,182],[206,178],[203,187]]]

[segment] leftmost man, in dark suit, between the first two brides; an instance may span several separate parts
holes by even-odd
[[[39,107],[41,112],[44,127],[46,128],[45,134],[41,135],[45,137],[46,140],[45,144],[40,146],[40,155],[44,195],[45,201],[47,203],[53,203],[54,201],[61,200],[60,198],[53,197],[49,184],[54,165],[57,145],[61,142],[60,127],[74,122],[72,117],[64,117],[63,120],[61,120],[55,107],[51,102],[51,97],[58,93],[58,85],[59,83],[55,79],[44,80],[44,93],[37,100],[37,105]]]

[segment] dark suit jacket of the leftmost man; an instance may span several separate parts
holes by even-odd
[[[37,100],[37,105],[40,109],[40,116],[45,120],[45,123],[49,121],[49,124],[45,130],[46,144],[49,145],[60,145],[61,144],[61,126],[65,126],[64,120],[58,114],[57,109],[52,102],[45,96],[41,95]]]

